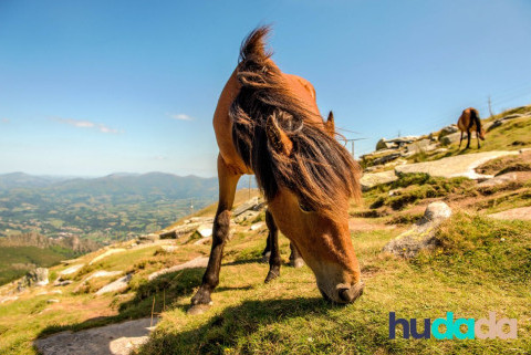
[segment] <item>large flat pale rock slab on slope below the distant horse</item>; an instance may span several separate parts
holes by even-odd
[[[518,155],[518,152],[492,150],[483,153],[465,154],[442,158],[434,161],[423,161],[416,164],[400,165],[395,167],[395,174],[418,174],[424,173],[429,176],[452,178],[466,177],[469,179],[489,179],[491,175],[481,175],[475,171],[475,168],[491,159],[506,155]]]

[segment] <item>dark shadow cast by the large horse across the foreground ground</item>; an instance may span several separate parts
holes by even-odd
[[[195,268],[163,274],[150,281],[143,280],[137,286],[135,295],[132,299],[121,304],[117,304],[117,302],[119,302],[117,301],[119,300],[119,296],[112,301],[110,306],[116,307],[118,311],[117,314],[110,316],[95,316],[70,325],[49,325],[39,333],[37,340],[33,342],[33,348],[37,353],[44,355],[62,354],[64,348],[60,348],[58,352],[54,351],[54,348],[59,346],[58,344],[61,343],[55,344],[55,346],[49,346],[48,348],[46,346],[43,346],[43,344],[45,345],[46,342],[50,344],[56,340],[60,340],[62,343],[69,344],[69,346],[72,347],[70,351],[73,354],[114,354],[113,346],[115,346],[115,343],[118,340],[148,335],[152,321],[153,323],[156,323],[157,316],[162,312],[171,307],[181,307],[183,311],[186,312],[189,307],[188,305],[173,305],[173,303],[184,296],[191,297],[194,291],[196,291],[197,286],[201,283],[204,273],[204,268]],[[221,286],[217,288],[216,292],[219,293],[233,290],[250,290],[252,288],[252,284],[240,288]],[[287,317],[302,316],[309,311],[326,311],[329,307],[332,307],[332,305],[327,304],[321,297],[243,301],[237,306],[225,309],[221,314],[212,315],[212,319],[205,325],[198,326],[192,331],[186,331],[167,336],[171,337],[171,342],[178,340],[184,343],[188,343],[188,338],[197,340],[198,334],[206,334],[207,331],[211,330],[212,326],[225,328],[227,326],[233,326],[239,322],[243,322],[243,324],[266,324]],[[209,310],[208,312],[212,310]],[[127,326],[129,323],[128,321],[135,320],[139,322],[136,328]],[[190,320],[192,320],[191,315]],[[117,326],[114,328],[114,325],[118,324],[123,324],[124,326]],[[113,327],[112,334],[104,336],[104,338],[98,338],[97,335],[92,334],[94,333],[93,331],[101,326]],[[80,331],[86,331],[84,333],[92,334],[87,335],[91,338],[90,345],[84,343],[85,340],[83,336],[81,336],[83,333],[79,333]],[[46,341],[48,338],[50,338],[50,341]],[[153,354],[157,354],[157,351],[155,349],[158,348],[160,342],[164,343],[165,341],[170,340],[165,340],[164,337],[149,340],[144,348],[148,348],[149,352],[154,349]],[[198,341],[200,341],[200,338]],[[209,342],[208,344],[214,343]],[[76,351],[76,346],[83,348],[77,348]],[[201,352],[204,349],[201,349]],[[206,351],[209,353],[208,349]],[[143,351],[143,353],[145,351]],[[164,353],[164,349],[160,349],[159,354]]]

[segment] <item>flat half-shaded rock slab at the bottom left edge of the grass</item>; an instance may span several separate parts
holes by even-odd
[[[153,320],[153,325],[157,324]],[[127,355],[147,342],[153,330],[150,319],[128,321],[80,332],[61,332],[34,342],[43,355]]]

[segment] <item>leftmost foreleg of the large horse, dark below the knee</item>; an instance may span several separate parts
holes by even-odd
[[[240,176],[241,175],[232,173],[231,169],[227,167],[222,157],[218,156],[219,203],[214,219],[212,248],[210,250],[207,271],[205,271],[205,275],[202,276],[201,286],[191,299],[194,306],[188,310],[190,314],[202,312],[204,307],[200,305],[212,304],[210,293],[219,283],[219,270],[221,269],[223,247],[229,237],[230,209],[235,201],[236,186]]]

